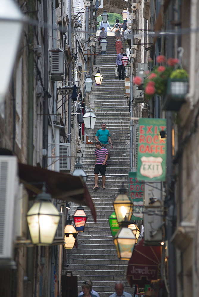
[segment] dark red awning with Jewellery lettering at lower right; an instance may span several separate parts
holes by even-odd
[[[129,260],[127,279],[129,285],[150,284],[151,280],[158,279],[162,247],[144,246],[144,238],[137,243],[133,255]]]

